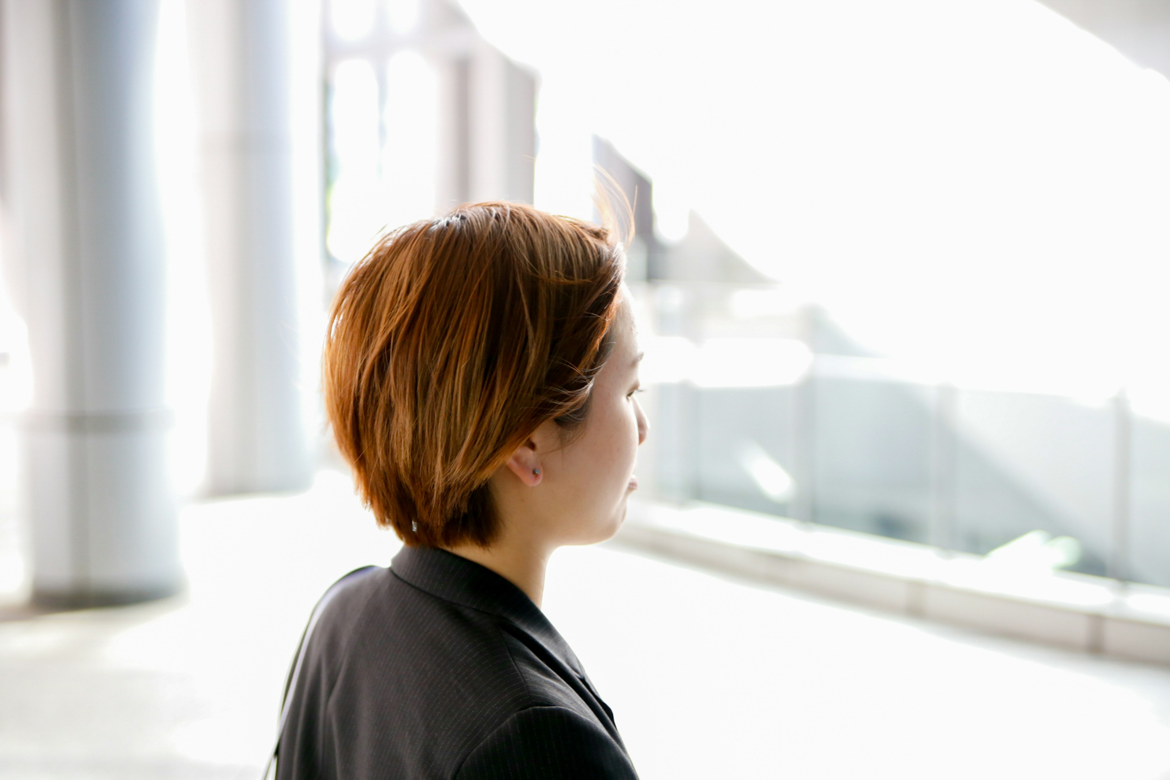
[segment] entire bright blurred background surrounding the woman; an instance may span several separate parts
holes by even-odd
[[[1170,778],[1170,5],[2,9],[0,775],[259,774],[398,543],[333,290],[600,172],[653,433],[546,607],[644,776]]]

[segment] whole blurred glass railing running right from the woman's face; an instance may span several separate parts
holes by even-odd
[[[1170,586],[1170,424],[1124,392],[934,376],[778,286],[634,294],[648,498]]]

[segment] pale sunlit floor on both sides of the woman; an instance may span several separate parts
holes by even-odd
[[[181,597],[0,622],[0,778],[259,776],[315,598],[397,547],[329,472],[308,494],[188,507],[183,534]],[[1170,780],[1168,668],[613,546],[558,553],[545,609],[646,780]]]

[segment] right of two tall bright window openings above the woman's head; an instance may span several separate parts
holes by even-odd
[[[383,186],[388,224],[398,226],[434,214],[439,80],[426,60],[404,52],[390,61],[386,81]]]

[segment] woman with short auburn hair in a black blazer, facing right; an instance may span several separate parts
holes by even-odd
[[[612,536],[638,487],[622,268],[608,231],[493,203],[387,235],[346,278],[326,409],[405,546],[318,604],[278,778],[636,776],[539,609],[552,550]]]

